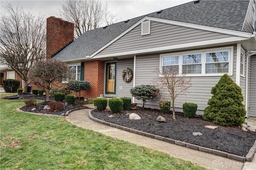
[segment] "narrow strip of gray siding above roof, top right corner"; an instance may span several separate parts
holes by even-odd
[[[244,25],[242,31],[244,32],[254,32],[254,28],[252,27],[252,9],[253,9],[254,2],[251,0],[248,6],[248,10],[246,13],[246,17],[244,20]]]

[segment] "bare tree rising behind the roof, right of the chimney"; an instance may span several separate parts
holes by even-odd
[[[114,24],[116,16],[102,0],[66,0],[60,9],[60,17],[74,23],[75,38],[88,30]]]

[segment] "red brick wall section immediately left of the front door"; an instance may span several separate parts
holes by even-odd
[[[104,93],[104,67],[105,61],[86,61],[84,62],[84,81],[89,81],[91,88],[86,91],[81,91],[81,97],[85,98],[96,98],[100,94]],[[52,84],[52,89],[60,89],[65,87],[66,84],[58,83],[57,85]],[[79,95],[79,93],[72,93]]]

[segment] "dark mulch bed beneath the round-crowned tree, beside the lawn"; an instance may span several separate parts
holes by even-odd
[[[8,97],[3,97],[3,99],[8,99],[9,97],[21,97],[20,99],[36,99],[36,100],[42,100],[45,101],[46,100],[46,96],[34,96],[31,93],[26,93],[26,94],[18,94],[18,95],[13,95],[13,96],[8,96]],[[12,100],[19,100],[19,98],[17,99],[12,99]],[[54,99],[52,97],[50,97],[50,101],[53,101]],[[62,111],[57,111],[57,112],[51,112],[48,110],[44,110],[44,107],[47,105],[47,102],[42,102],[42,103],[38,103],[34,108],[36,108],[36,110],[31,111],[32,108],[29,108],[27,106],[23,106],[20,108],[20,110],[22,111],[26,111],[26,112],[32,112],[32,113],[42,113],[42,114],[52,114],[52,115],[62,115],[63,113],[65,114],[67,111],[71,110],[71,109],[76,109],[76,108],[80,108],[80,107],[84,107],[83,105],[80,104],[80,101],[82,101],[83,99],[80,100],[76,100],[76,103],[74,105],[66,105],[65,109]]]

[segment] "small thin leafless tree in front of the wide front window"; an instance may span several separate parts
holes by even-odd
[[[154,84],[160,87],[163,91],[167,91],[167,96],[170,97],[172,102],[172,117],[175,120],[175,101],[180,95],[191,87],[190,77],[185,77],[186,73],[179,74],[179,68],[177,66],[164,67],[162,71],[155,69],[155,72],[159,75],[157,79],[154,79]]]

